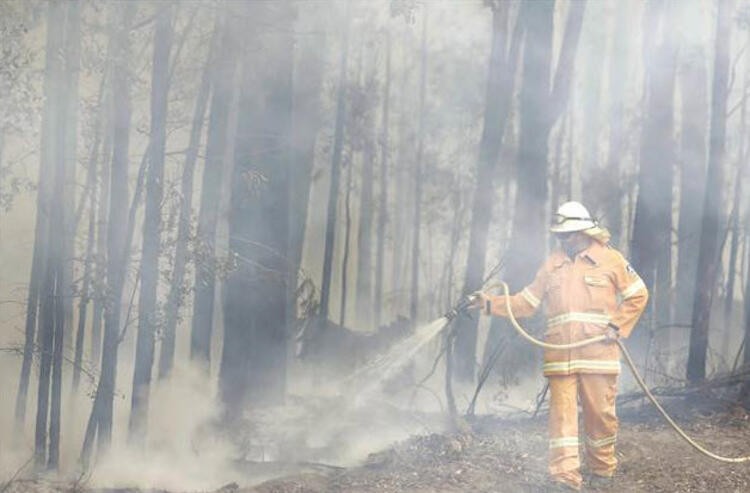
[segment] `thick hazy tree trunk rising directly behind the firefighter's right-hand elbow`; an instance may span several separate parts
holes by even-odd
[[[668,26],[672,2],[652,2],[645,15],[655,19],[649,37],[654,41],[659,24]],[[674,85],[677,45],[674,29],[664,29],[656,50],[647,58],[645,82],[646,117],[641,135],[638,201],[633,225],[631,256],[649,290],[654,292],[653,306],[657,323],[669,323],[672,242],[672,182],[674,169]],[[637,333],[636,343],[645,347]]]

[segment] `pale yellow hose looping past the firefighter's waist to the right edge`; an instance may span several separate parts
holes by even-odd
[[[530,335],[523,327],[521,327],[521,324],[518,323],[518,320],[516,320],[516,317],[513,315],[513,308],[510,306],[510,291],[508,289],[508,285],[500,281],[500,285],[503,288],[503,294],[505,294],[505,307],[508,310],[508,318],[510,318],[510,322],[513,325],[513,327],[516,329],[516,331],[529,341],[531,344],[535,346],[542,347],[544,349],[574,349],[579,348],[582,346],[588,346],[589,344],[595,344],[597,342],[602,342],[607,339],[607,336],[601,335],[592,337],[589,339],[584,339],[582,341],[577,341],[571,344],[550,344],[548,342],[540,341],[539,339],[533,337]],[[654,394],[651,393],[648,386],[646,385],[646,382],[643,381],[643,377],[641,377],[641,374],[638,373],[638,370],[636,369],[635,362],[633,362],[633,358],[630,356],[630,353],[628,352],[627,348],[625,347],[625,344],[621,340],[615,341],[618,346],[620,346],[620,349],[622,350],[623,356],[625,356],[625,362],[628,364],[628,367],[630,368],[630,371],[633,373],[633,376],[635,377],[635,381],[638,382],[638,386],[643,390],[643,392],[646,394],[646,397],[651,401],[651,403],[656,406],[656,409],[659,410],[659,413],[662,415],[662,417],[669,423],[669,425],[674,429],[674,431],[677,432],[678,435],[680,435],[688,444],[690,444],[691,447],[693,447],[698,452],[702,453],[706,457],[710,457],[711,459],[718,460],[720,462],[729,462],[729,463],[740,463],[740,462],[748,462],[750,461],[750,456],[744,456],[744,457],[724,457],[718,454],[715,454],[706,448],[704,448],[702,445],[697,443],[695,440],[690,438],[685,431],[680,428],[680,426],[675,423],[675,421],[667,414],[667,412],[664,410],[664,408],[659,404],[659,401],[656,400],[656,397],[654,397]]]

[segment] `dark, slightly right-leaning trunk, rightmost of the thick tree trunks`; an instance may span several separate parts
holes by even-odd
[[[721,190],[724,178],[724,149],[729,75],[729,37],[734,2],[719,2],[716,17],[715,61],[711,89],[711,130],[708,169],[701,220],[701,241],[690,330],[687,379],[697,383],[706,376],[708,327],[716,272],[719,264],[720,232],[724,224]]]

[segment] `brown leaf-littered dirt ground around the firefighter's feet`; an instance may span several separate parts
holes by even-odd
[[[701,409],[681,404],[673,411],[700,443],[727,456],[750,455],[750,415],[741,408]],[[221,493],[437,493],[544,492],[546,417],[481,417],[452,435],[416,436],[371,454],[360,466],[340,468],[297,464],[256,486],[228,484]],[[621,412],[617,444],[620,467],[611,492],[746,492],[750,462],[723,464],[696,453],[664,424],[650,406]],[[269,464],[272,465],[272,464]],[[254,476],[250,470],[247,477]],[[584,469],[585,473],[585,469]],[[256,476],[257,477],[257,476]],[[0,485],[2,490],[3,485]],[[44,488],[17,482],[3,493],[156,493],[137,489],[88,490],[71,485]],[[159,493],[188,493],[162,492]]]

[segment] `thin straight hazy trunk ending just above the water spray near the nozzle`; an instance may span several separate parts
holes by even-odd
[[[427,93],[427,4],[423,6],[422,48],[419,64],[419,127],[417,133],[417,160],[414,163],[414,216],[412,219],[411,243],[411,303],[409,320],[417,325],[419,316],[419,239],[422,230],[422,167],[424,160],[424,119]]]

